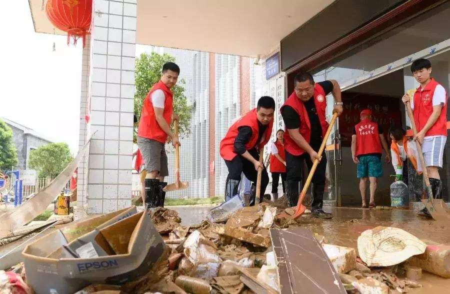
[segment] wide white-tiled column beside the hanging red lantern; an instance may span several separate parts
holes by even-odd
[[[131,205],[136,0],[94,0],[87,213]]]

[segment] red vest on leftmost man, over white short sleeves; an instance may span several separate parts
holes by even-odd
[[[165,143],[167,141],[167,134],[161,129],[158,122],[156,121],[156,117],[154,116],[153,103],[151,103],[150,99],[151,93],[157,89],[161,89],[164,92],[165,101],[162,116],[164,117],[167,124],[170,125],[173,111],[173,94],[170,89],[161,80],[159,80],[151,87],[150,91],[143,100],[139,127],[137,128],[137,135],[140,137]]]

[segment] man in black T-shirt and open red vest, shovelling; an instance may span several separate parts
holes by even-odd
[[[335,80],[314,83],[309,72],[294,77],[294,91],[281,106],[281,116],[286,126],[284,149],[286,153],[286,191],[290,206],[297,205],[299,183],[303,162],[311,169],[312,162],[320,162],[312,177],[311,213],[320,218],[330,218],[331,213],[323,211],[325,189],[326,156],[317,155],[322,138],[328,128],[326,121],[326,95],[332,93],[335,104],[333,112],[342,113],[340,87]]]

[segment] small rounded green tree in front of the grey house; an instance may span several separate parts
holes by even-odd
[[[39,176],[55,178],[72,159],[67,143],[49,143],[31,150],[28,165],[39,170]]]

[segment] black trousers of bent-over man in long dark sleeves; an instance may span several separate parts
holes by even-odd
[[[248,152],[253,158],[259,160],[259,152],[256,149],[254,148],[250,149],[248,150]],[[228,179],[240,180],[240,175],[243,172],[246,178],[248,178],[250,181],[256,184],[257,171],[254,169],[253,163],[251,163],[244,157],[237,155],[232,160],[225,160],[225,164],[226,167],[228,168],[228,176],[226,177],[227,180]],[[267,184],[268,184],[268,174],[264,166],[261,175],[261,195],[264,194]]]

